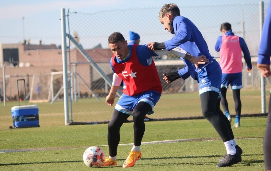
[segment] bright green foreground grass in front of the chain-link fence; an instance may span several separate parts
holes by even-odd
[[[142,158],[131,170],[264,170],[262,137],[266,117],[241,120],[240,128],[234,128],[237,143],[243,148],[242,162],[230,168],[215,168],[226,152],[219,141],[192,141],[142,145]],[[87,147],[107,144],[107,124],[48,126],[38,128],[5,129],[0,131],[0,147],[3,149],[28,149],[53,147],[54,150],[14,152],[0,154],[0,170],[87,170],[82,156]],[[250,137],[254,139],[239,139]],[[219,138],[207,120],[181,120],[146,122],[143,142]],[[121,128],[121,141],[133,143],[133,123]],[[57,147],[74,147],[57,149]],[[123,170],[121,167],[132,146],[118,147],[118,165],[98,168]],[[108,147],[102,146],[108,155]],[[126,169],[124,169],[126,170]]]

